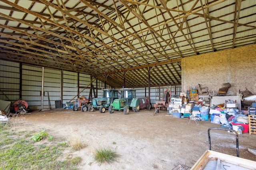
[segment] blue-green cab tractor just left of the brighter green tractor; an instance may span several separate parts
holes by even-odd
[[[92,105],[88,107],[89,111],[98,110],[100,113],[105,113],[113,100],[118,99],[118,90],[103,89],[102,98],[92,99]]]

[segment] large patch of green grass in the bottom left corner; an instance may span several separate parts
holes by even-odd
[[[30,133],[29,136],[28,133]],[[48,136],[43,133],[38,134],[42,136],[42,139]],[[80,157],[65,160],[62,158],[62,152],[69,147],[67,143],[59,145],[50,140],[34,143],[30,139],[31,136],[32,132],[13,132],[11,126],[0,125],[0,170],[78,169],[76,166],[81,162]],[[35,139],[40,139],[40,137],[35,137]]]

